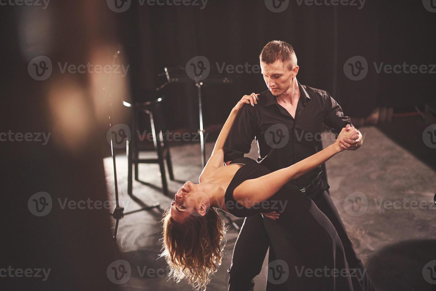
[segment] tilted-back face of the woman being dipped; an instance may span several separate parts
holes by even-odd
[[[182,222],[186,217],[199,215],[204,195],[206,193],[200,191],[199,185],[191,181],[186,182],[174,195],[171,202],[171,217],[177,222]]]

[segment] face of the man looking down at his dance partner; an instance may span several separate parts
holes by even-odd
[[[296,75],[296,72],[295,68],[290,70],[289,66],[289,62],[283,63],[281,60],[277,60],[272,64],[260,62],[263,79],[272,95],[280,96],[290,88],[292,77]],[[298,68],[296,71],[298,71]]]

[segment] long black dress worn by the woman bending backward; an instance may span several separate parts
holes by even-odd
[[[341,240],[330,220],[312,200],[287,183],[269,200],[245,208],[233,198],[234,189],[247,179],[271,173],[247,157],[230,164],[242,164],[225,193],[228,211],[249,217],[269,211],[280,218],[263,219],[270,239],[267,291],[353,291],[351,275]],[[263,275],[263,274],[262,274]]]

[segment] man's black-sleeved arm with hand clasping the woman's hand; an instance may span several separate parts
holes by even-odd
[[[326,110],[324,124],[330,128],[330,131],[333,132],[336,137],[338,133],[341,132],[341,129],[345,128],[346,125],[353,126],[351,124],[351,119],[344,115],[341,106],[337,104],[337,102],[327,92],[324,96],[324,106]],[[356,150],[361,147],[362,143],[363,136],[361,132],[359,132],[358,139],[344,138],[340,140],[341,148],[347,150]]]

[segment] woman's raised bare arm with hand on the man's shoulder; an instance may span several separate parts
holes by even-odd
[[[239,109],[242,108],[244,104],[251,104],[254,106],[254,104],[257,104],[257,95],[252,93],[251,95],[244,95],[241,100],[233,107],[232,111],[230,112],[230,115],[228,115],[227,120],[224,123],[224,126],[221,129],[220,134],[218,135],[218,139],[215,142],[215,147],[212,150],[211,157],[209,158],[208,162],[206,163],[206,166],[204,166],[203,171],[200,175],[200,183],[205,182],[211,175],[213,175],[213,172],[215,172],[215,169],[223,166],[224,163],[224,144],[225,140],[227,139],[228,133],[230,132],[230,129],[232,128],[233,122],[235,121],[236,115],[239,112]]]

